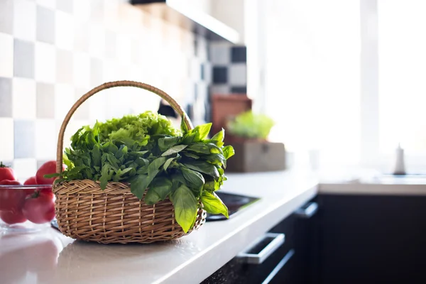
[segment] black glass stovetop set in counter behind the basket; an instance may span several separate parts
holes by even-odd
[[[228,207],[229,218],[234,217],[236,213],[240,212],[242,209],[248,207],[250,204],[258,201],[260,198],[250,197],[246,195],[234,195],[232,193],[226,192],[215,192],[217,196],[224,202],[226,207]],[[207,214],[206,221],[221,221],[226,220],[226,217],[222,214]]]

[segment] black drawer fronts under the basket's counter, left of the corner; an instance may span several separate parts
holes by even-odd
[[[285,241],[265,261],[250,264],[234,258],[202,283],[309,283],[312,275],[310,259],[315,251],[312,249],[312,244],[315,244],[312,239],[313,232],[316,231],[312,227],[315,224],[315,212],[312,212],[312,216],[305,216],[304,213],[305,207],[271,229],[271,234],[284,234]],[[266,244],[267,241],[261,241],[252,248],[252,252],[261,251]]]

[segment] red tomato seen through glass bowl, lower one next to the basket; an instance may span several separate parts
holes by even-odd
[[[26,199],[22,212],[23,216],[35,224],[50,222],[55,218],[55,202],[52,196],[40,192],[37,197]]]

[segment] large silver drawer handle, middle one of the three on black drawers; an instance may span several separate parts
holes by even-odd
[[[269,242],[259,253],[249,253],[253,247],[257,246],[265,239],[272,239],[272,241]],[[240,258],[240,260],[244,263],[261,264],[266,260],[266,258],[268,258],[268,256],[271,256],[272,253],[284,244],[284,240],[284,234],[266,233],[249,246],[249,248],[239,253],[236,258]]]

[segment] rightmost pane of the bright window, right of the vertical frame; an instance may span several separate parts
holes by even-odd
[[[426,1],[378,1],[379,148],[426,152]]]

